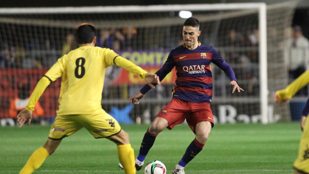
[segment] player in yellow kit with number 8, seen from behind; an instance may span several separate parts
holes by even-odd
[[[108,138],[115,142],[125,173],[135,174],[134,151],[129,135],[121,129],[117,120],[101,107],[104,73],[108,66],[117,65],[137,74],[149,85],[159,83],[159,77],[147,73],[113,50],[95,47],[95,28],[92,25],[79,26],[76,39],[80,47],[58,59],[37,83],[26,108],[17,115],[19,127],[27,120],[29,125],[34,106],[46,87],[62,77],[59,109],[48,140],[30,156],[20,174],[34,172],[56,150],[63,137],[70,136],[83,127],[95,138]]]

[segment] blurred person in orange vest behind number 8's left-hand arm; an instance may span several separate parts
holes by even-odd
[[[10,101],[10,108],[9,108],[9,116],[11,118],[16,119],[17,114],[19,111],[23,110],[29,101],[29,85],[23,85],[18,92],[18,96],[15,99]],[[40,118],[37,116],[43,115],[43,108],[41,107],[40,103],[37,102],[35,105],[35,111],[33,111],[33,122],[40,123]]]

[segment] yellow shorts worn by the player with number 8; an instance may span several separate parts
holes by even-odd
[[[100,114],[57,115],[49,131],[49,138],[58,140],[85,127],[95,138],[116,135],[121,127],[116,119],[102,111]]]

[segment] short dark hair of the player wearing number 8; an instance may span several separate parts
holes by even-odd
[[[76,29],[76,41],[78,44],[91,43],[95,36],[95,27],[90,24],[83,24]]]

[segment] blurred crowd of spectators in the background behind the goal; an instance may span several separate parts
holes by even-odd
[[[148,33],[154,32],[151,36]],[[165,34],[160,34],[160,30],[157,32],[149,31],[138,28],[122,28],[122,29],[99,29],[97,33],[96,46],[106,47],[114,50],[115,52],[121,51],[145,51],[145,50],[166,50],[169,51],[176,46],[183,44],[181,37],[181,30],[177,31],[176,37],[168,37],[171,34],[166,34],[171,31],[162,31]],[[202,31],[203,32],[203,31]],[[268,31],[271,33],[271,31]],[[158,35],[156,35],[158,34]],[[218,34],[219,35],[219,34]],[[163,38],[160,38],[163,37]],[[209,36],[206,33],[202,33],[199,41],[202,43],[213,45],[219,52],[219,54],[229,63],[240,82],[240,86],[246,89],[246,93],[240,95],[244,96],[258,96],[259,95],[259,30],[253,29],[247,32],[239,32],[234,29],[227,30],[224,34],[217,36],[217,39],[213,43],[208,43]],[[61,43],[55,44],[51,42],[52,39],[28,39],[28,43],[18,44],[13,42],[13,39],[8,39],[7,42],[0,43],[0,72],[4,72],[8,69],[33,69],[46,71],[49,67],[57,61],[61,55],[67,54],[71,50],[78,47],[73,31],[69,31],[61,39]],[[52,44],[53,43],[53,44]],[[284,68],[288,71],[289,80],[292,81],[298,77],[301,73],[309,67],[309,41],[303,36],[300,26],[294,26],[293,28],[286,29],[286,40],[281,43],[280,46],[284,50]],[[271,49],[271,46],[269,46]],[[214,89],[214,95],[225,96],[229,93],[228,83],[225,83],[226,77],[224,72],[218,68],[214,68],[214,82],[217,84]],[[111,67],[106,72],[106,81],[111,81],[119,75],[119,67]],[[29,73],[31,74],[31,73]],[[3,79],[3,73],[0,73]],[[219,82],[223,80],[222,82]],[[11,80],[12,83],[18,83]],[[1,82],[0,92],[6,93],[7,89],[4,88],[5,80]],[[225,85],[226,84],[226,85]],[[60,85],[57,84],[57,85]],[[7,85],[6,85],[7,86]],[[11,86],[11,85],[9,85]],[[19,91],[19,94],[9,97],[9,101],[3,103],[5,95],[0,96],[0,102],[4,105],[10,105],[8,115],[11,118],[15,118],[18,113],[18,108],[22,107],[27,101],[29,90],[33,90],[32,87],[22,85],[12,85],[16,88],[15,91]],[[103,92],[104,98],[128,98],[135,94],[141,87],[140,85],[123,85],[123,86],[108,86],[104,85],[105,90]],[[169,93],[173,85],[162,85],[150,92],[150,97],[166,98],[169,97]],[[57,88],[57,86],[56,86]],[[115,94],[118,93],[119,95]],[[120,95],[124,94],[126,95]],[[166,93],[166,94],[164,94]],[[226,94],[225,94],[226,93]],[[308,89],[301,90],[298,95],[308,94]],[[28,97],[27,97],[27,96]],[[27,98],[26,98],[27,97]],[[2,98],[2,99],[1,99]],[[7,99],[7,98],[5,98]],[[18,104],[18,106],[14,106]],[[2,106],[3,107],[3,106]],[[38,104],[40,107],[40,104]],[[43,114],[43,109],[37,113],[37,115]],[[1,108],[2,109],[2,108]],[[106,108],[105,108],[106,109]],[[108,109],[106,109],[108,110]],[[41,111],[41,112],[40,112]]]

